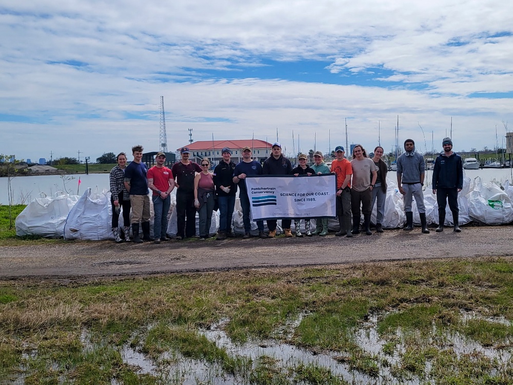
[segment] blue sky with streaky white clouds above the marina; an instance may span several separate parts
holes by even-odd
[[[189,129],[328,152],[346,123],[349,144],[392,151],[398,121],[421,152],[451,127],[456,151],[502,147],[512,14],[495,0],[0,0],[0,153],[158,151],[161,96],[170,152]]]

